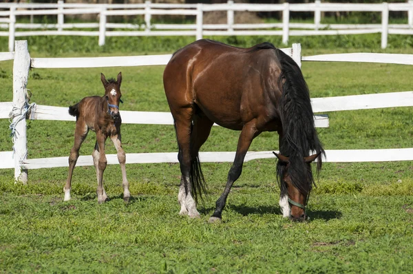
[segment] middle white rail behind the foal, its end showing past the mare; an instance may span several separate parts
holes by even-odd
[[[134,112],[121,110],[123,124],[144,125],[173,125],[173,117],[170,112]],[[36,105],[30,114],[32,120],[67,120],[76,121],[68,112],[68,107],[52,107],[50,105]],[[315,116],[316,127],[328,127],[328,116]]]

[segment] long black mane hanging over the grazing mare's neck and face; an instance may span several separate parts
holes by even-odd
[[[321,153],[317,162],[317,171],[319,171],[322,163],[321,155],[325,156],[325,152],[315,130],[310,93],[304,76],[297,63],[290,56],[281,50],[277,50],[277,53],[282,67],[282,74],[279,76],[279,85],[282,85],[279,114],[283,136],[279,151],[280,154],[289,157],[288,174],[293,185],[301,193],[308,194],[314,179],[311,168],[308,168],[303,158],[308,156],[311,151]],[[283,80],[284,84],[282,84]],[[283,183],[285,172],[286,165],[279,161],[277,176],[281,191],[284,193],[286,193],[286,186]]]

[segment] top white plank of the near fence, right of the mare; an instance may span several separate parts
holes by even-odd
[[[341,53],[302,56],[301,61],[319,62],[359,62],[359,63],[388,63],[413,65],[413,54],[388,53]]]

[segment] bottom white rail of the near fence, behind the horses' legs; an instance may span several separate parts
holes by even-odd
[[[413,148],[411,149],[344,149],[327,150],[324,162],[388,162],[413,160]],[[118,165],[116,154],[106,155],[108,165]],[[201,162],[233,162],[235,151],[224,152],[200,152]],[[244,162],[251,160],[273,158],[273,151],[248,151]],[[54,158],[26,159],[25,169],[41,169],[52,167],[68,167],[68,156]],[[178,153],[147,153],[126,154],[127,164],[153,164],[160,162],[178,162]],[[80,156],[76,166],[92,166],[92,156]]]

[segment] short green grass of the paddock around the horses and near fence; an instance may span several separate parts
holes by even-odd
[[[366,52],[303,48],[303,55]],[[413,49],[386,52],[413,54]],[[102,55],[125,52],[106,48],[59,56]],[[31,70],[28,88],[32,102],[68,106],[102,94],[100,72],[114,77],[121,70],[121,109],[168,111],[163,68]],[[413,67],[405,65],[311,62],[302,70],[312,97],[412,90]],[[12,62],[0,63],[0,82],[6,91],[0,101],[11,101]],[[318,129],[326,149],[413,147],[412,107],[328,115],[330,127]],[[0,120],[0,127],[0,150],[10,151],[8,120]],[[122,130],[127,153],[177,151],[172,126],[123,125]],[[28,121],[29,158],[68,156],[73,133],[71,122]],[[234,151],[238,134],[214,127],[202,151]],[[81,154],[91,154],[94,142],[91,133]],[[277,134],[264,133],[250,150],[277,149],[277,143]],[[107,153],[115,153],[109,142]],[[178,215],[176,164],[127,165],[134,197],[129,204],[121,197],[120,168],[108,166],[104,180],[111,200],[102,205],[93,167],[75,169],[70,202],[63,202],[66,168],[31,170],[25,186],[14,185],[11,169],[0,170],[0,273],[410,273],[413,268],[413,162],[326,163],[310,198],[310,221],[304,223],[279,213],[275,159],[267,159],[245,163],[224,222],[208,224],[231,163],[202,167],[209,198],[198,207],[200,220]]]

